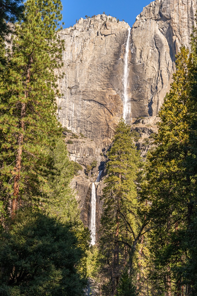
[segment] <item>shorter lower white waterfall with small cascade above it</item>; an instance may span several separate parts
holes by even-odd
[[[96,183],[99,182],[102,171],[96,178]],[[91,231],[91,244],[94,245],[96,242],[96,189],[95,184],[92,183],[92,193],[91,193],[91,219],[90,219],[90,231]]]

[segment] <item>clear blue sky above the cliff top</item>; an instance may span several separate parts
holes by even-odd
[[[117,17],[120,21],[124,19],[131,27],[135,17],[149,3],[151,0],[62,0],[64,28],[73,26],[80,17],[91,17],[103,12]]]

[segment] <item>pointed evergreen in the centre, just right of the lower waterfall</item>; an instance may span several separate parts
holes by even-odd
[[[129,295],[135,283],[133,257],[148,222],[141,213],[143,204],[138,202],[137,195],[140,155],[124,120],[117,126],[108,157],[99,240],[101,272],[108,278],[105,288],[110,295]],[[124,271],[127,291],[121,292],[117,288]]]

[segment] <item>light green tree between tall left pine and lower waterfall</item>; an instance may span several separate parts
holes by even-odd
[[[44,210],[50,216],[58,217],[63,222],[75,222],[78,220],[79,210],[69,186],[76,169],[74,162],[69,160],[63,139],[56,142],[56,146],[50,153],[54,170],[46,184],[47,199],[43,204]]]

